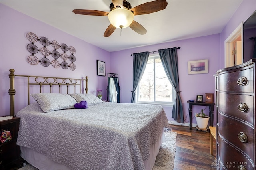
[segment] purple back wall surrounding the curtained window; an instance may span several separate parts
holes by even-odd
[[[220,69],[218,65],[220,60],[219,34],[110,53],[111,72],[118,73],[120,77],[121,102],[130,103],[131,101],[133,57],[130,54],[143,51],[158,51],[158,49],[171,47],[181,47],[177,53],[180,91],[182,91],[180,95],[183,103],[184,118],[186,118],[188,113],[187,101],[189,99],[196,100],[196,95],[204,95],[205,97],[205,93],[215,93],[215,79],[213,75]],[[188,61],[202,59],[208,59],[209,72],[207,74],[188,75]],[[204,108],[202,107],[202,109]],[[164,107],[164,109],[168,120],[174,122],[172,119],[172,107]],[[193,107],[192,109],[193,113],[196,113],[201,110],[201,107]],[[207,111],[208,108],[206,113]],[[187,117],[185,122],[189,122],[189,117]],[[192,123],[196,123],[194,119]]]

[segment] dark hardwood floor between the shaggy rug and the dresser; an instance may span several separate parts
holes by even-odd
[[[213,140],[213,156],[210,154],[210,134],[187,126],[170,125],[177,132],[174,170],[215,170],[216,140]]]

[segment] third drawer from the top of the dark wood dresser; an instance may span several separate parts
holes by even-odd
[[[218,116],[219,134],[254,160],[254,129],[245,123],[222,114],[219,114]],[[247,142],[241,142],[239,140],[238,134],[240,134],[240,132],[243,132],[247,136]]]

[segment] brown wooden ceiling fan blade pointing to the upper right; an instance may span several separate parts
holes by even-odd
[[[166,0],[155,0],[135,6],[134,8],[131,8],[130,11],[133,12],[133,15],[143,15],[163,10],[166,8],[166,6]]]

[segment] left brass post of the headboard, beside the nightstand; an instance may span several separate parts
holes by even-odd
[[[10,69],[9,79],[10,79],[10,89],[9,89],[9,95],[10,95],[10,116],[14,116],[14,95],[15,95],[15,89],[14,89],[14,69]]]

